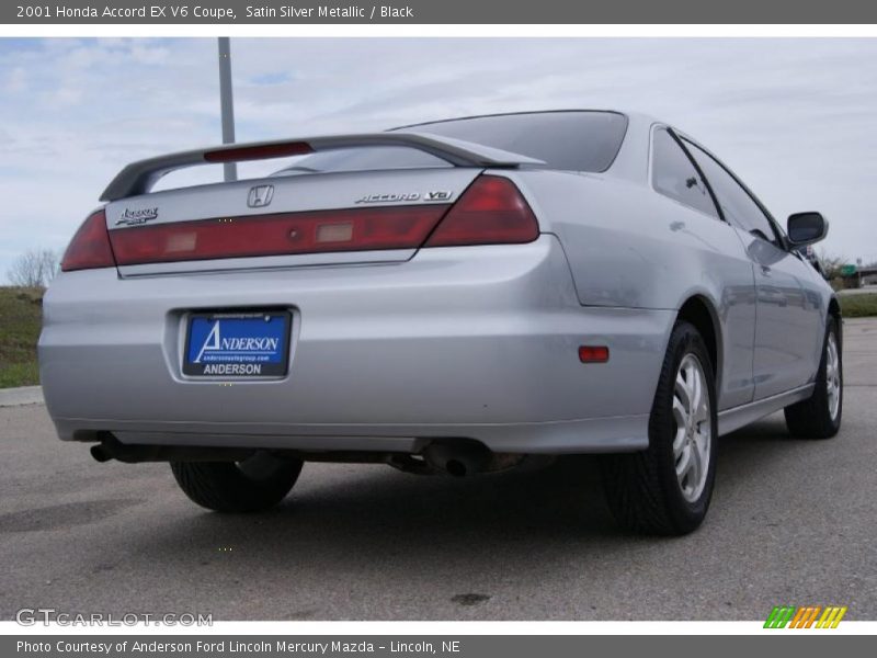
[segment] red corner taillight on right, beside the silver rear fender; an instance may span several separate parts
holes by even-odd
[[[532,242],[539,224],[509,179],[475,179],[447,213],[424,247]]]

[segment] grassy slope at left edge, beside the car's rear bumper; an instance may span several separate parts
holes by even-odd
[[[0,287],[0,388],[39,383],[36,339],[43,291]]]

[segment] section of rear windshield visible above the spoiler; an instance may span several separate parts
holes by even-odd
[[[492,146],[543,160],[551,169],[606,171],[627,131],[615,112],[533,112],[456,118],[397,128]]]

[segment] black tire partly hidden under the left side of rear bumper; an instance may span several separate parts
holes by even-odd
[[[259,512],[277,504],[293,488],[301,462],[258,452],[243,462],[171,462],[183,492],[217,512]]]

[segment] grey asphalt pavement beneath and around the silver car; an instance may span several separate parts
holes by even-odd
[[[229,518],[161,465],[98,464],[38,405],[0,409],[0,619],[213,612],[215,619],[764,619],[844,604],[877,619],[877,321],[846,324],[844,427],[782,416],[722,440],[706,524],[629,536],[593,461],[471,480],[307,465],[286,503]]]

